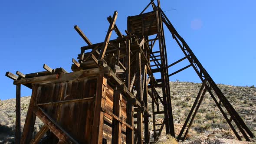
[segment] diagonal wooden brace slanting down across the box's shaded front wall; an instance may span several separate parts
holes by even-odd
[[[36,116],[65,144],[79,144],[59,124],[56,123],[42,108],[35,106],[33,109]]]

